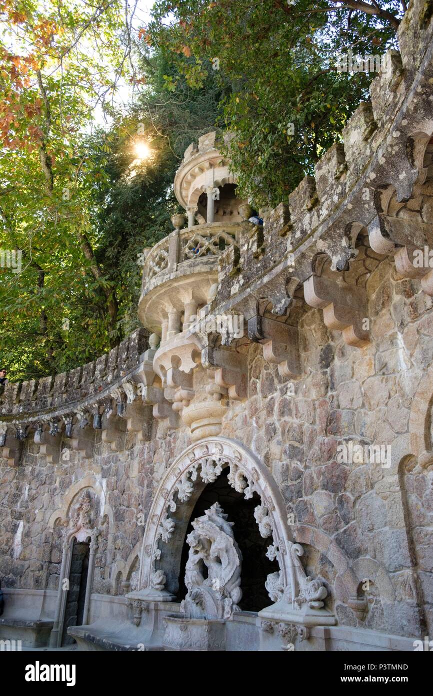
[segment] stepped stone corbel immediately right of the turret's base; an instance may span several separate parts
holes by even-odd
[[[215,384],[228,389],[230,399],[240,401],[247,397],[248,367],[245,355],[208,346],[202,350],[202,365],[216,368]]]

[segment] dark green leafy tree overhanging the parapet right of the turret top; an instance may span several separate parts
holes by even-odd
[[[158,0],[146,35],[171,52],[188,84],[214,69],[240,192],[275,205],[368,96],[375,75],[337,72],[337,54],[384,52],[404,10],[397,0]]]

